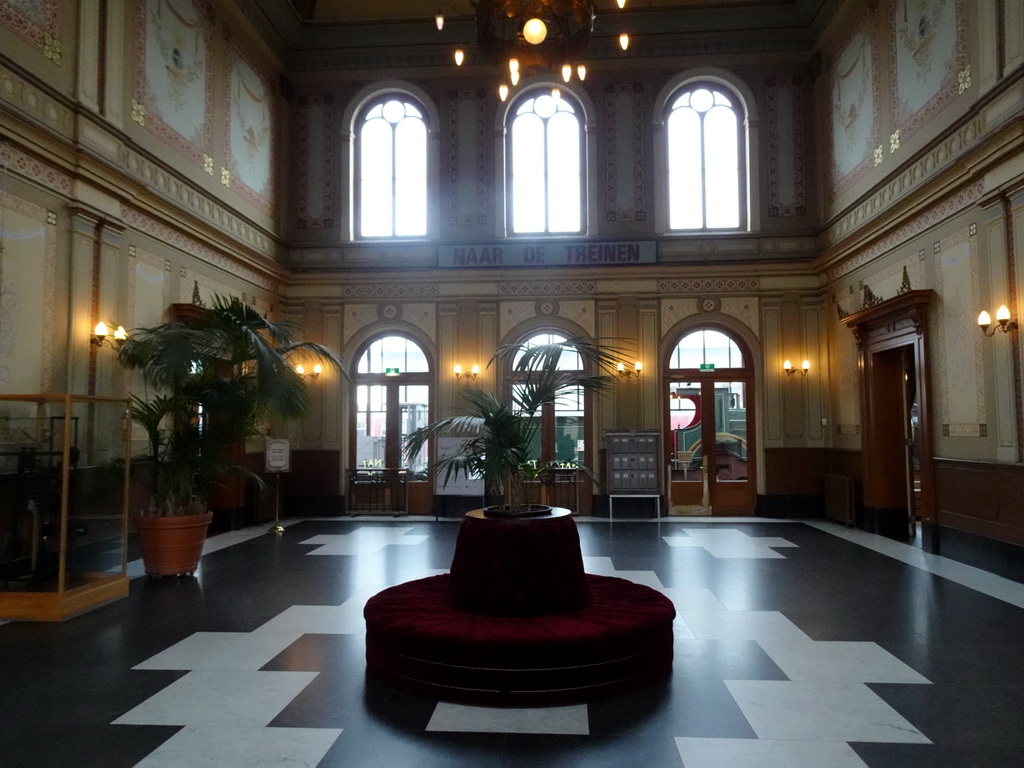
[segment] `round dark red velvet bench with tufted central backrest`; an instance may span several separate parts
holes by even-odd
[[[583,573],[575,523],[567,515],[564,519],[571,525],[581,579],[565,578],[556,584],[575,594],[572,599],[577,601],[582,584],[588,593],[584,607],[552,613],[550,608],[558,598],[549,595],[544,600],[548,612],[523,615],[520,593],[513,592],[513,612],[517,614],[510,615],[508,606],[499,608],[504,615],[481,613],[476,608],[465,610],[453,597],[476,593],[467,592],[466,585],[459,588],[459,582],[473,579],[479,570],[477,565],[490,571],[500,567],[496,553],[499,558],[525,558],[542,572],[551,564],[547,557],[535,559],[539,553],[522,548],[523,541],[511,549],[505,546],[510,527],[525,520],[494,526],[488,521],[485,529],[495,535],[490,544],[486,535],[482,540],[478,536],[484,528],[468,523],[474,546],[463,551],[466,542],[460,531],[451,574],[407,582],[367,602],[364,615],[369,670],[395,687],[419,695],[500,707],[555,706],[604,698],[669,675],[672,622],[676,615],[672,601],[625,579]],[[557,534],[551,536],[554,528],[547,527],[550,524],[541,522],[525,534],[525,529],[517,529],[515,536],[558,538]],[[562,555],[571,560],[573,553]],[[555,584],[549,584],[549,588],[551,591]],[[478,601],[473,598],[470,602]]]

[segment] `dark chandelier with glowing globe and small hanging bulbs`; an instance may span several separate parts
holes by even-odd
[[[620,8],[626,0],[615,0]],[[471,3],[476,20],[476,46],[481,56],[502,68],[498,88],[502,101],[523,74],[560,72],[567,83],[573,76],[587,77],[583,57],[594,34],[597,11],[594,0],[476,0]],[[444,14],[435,16],[438,31]],[[623,50],[629,35],[618,36]],[[466,52],[455,51],[456,66],[462,67]]]

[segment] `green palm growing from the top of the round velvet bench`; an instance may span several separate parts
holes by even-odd
[[[575,355],[582,365],[575,365]],[[579,389],[605,391],[622,356],[620,350],[584,337],[501,346],[487,368],[511,364],[515,383],[506,396],[466,386],[462,393],[466,413],[412,432],[406,439],[406,455],[418,456],[434,437],[465,437],[455,452],[434,463],[434,471],[440,473],[445,485],[460,475],[480,477],[489,504],[485,514],[545,514],[548,508],[529,503],[526,493],[530,481],[545,469],[534,455],[541,411]]]

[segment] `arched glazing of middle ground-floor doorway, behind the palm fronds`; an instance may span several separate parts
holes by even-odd
[[[523,346],[528,349],[541,344],[560,344],[565,341],[565,336],[559,333],[546,332],[535,334]],[[518,399],[515,393],[517,389],[521,390],[525,378],[525,374],[515,371],[521,356],[522,352],[516,355],[510,373],[513,401]],[[579,352],[566,348],[562,350],[557,366],[561,371],[581,371],[583,360]],[[565,465],[585,463],[587,399],[583,387],[567,386],[559,392],[555,402],[544,406],[540,413],[524,417],[538,422],[537,437],[529,456],[531,460],[539,464],[553,461]]]

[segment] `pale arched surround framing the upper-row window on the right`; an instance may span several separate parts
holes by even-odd
[[[729,229],[671,229],[669,226],[669,135],[668,118],[676,100],[686,91],[700,85],[722,91],[733,102],[739,123],[739,226]],[[732,73],[718,68],[688,70],[670,80],[654,101],[654,142],[660,162],[654,164],[654,181],[658,191],[654,223],[660,234],[706,234],[712,231],[757,231],[761,228],[758,206],[759,172],[758,114],[754,94],[745,83]]]

